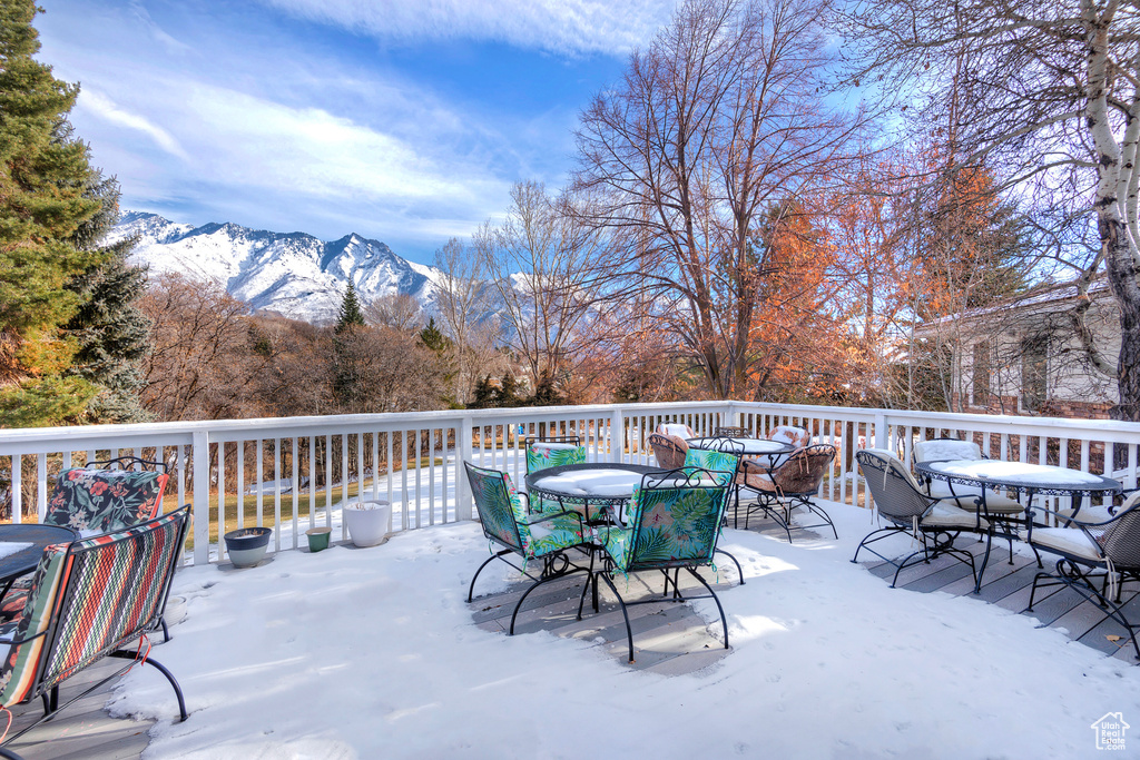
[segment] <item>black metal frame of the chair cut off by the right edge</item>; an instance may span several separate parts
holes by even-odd
[[[1031,507],[1029,508],[1029,521],[1028,529],[1026,533],[1026,541],[1029,541],[1029,546],[1033,548],[1034,554],[1037,556],[1037,566],[1041,567],[1041,555],[1037,554],[1037,547],[1032,544],[1033,539],[1033,514],[1034,512],[1042,512],[1045,514],[1051,514],[1054,517],[1060,517],[1066,520],[1067,526],[1070,530],[1080,530],[1083,532],[1091,541],[1097,542],[1097,538],[1090,532],[1090,529],[1107,529],[1116,523],[1121,517],[1130,514],[1134,510],[1140,510],[1140,501],[1133,504],[1127,509],[1122,509],[1116,513],[1112,520],[1106,520],[1102,522],[1084,522],[1080,520],[1067,518],[1062,513],[1056,512],[1053,509],[1047,509],[1044,507]],[[1060,558],[1057,561],[1056,572],[1039,572],[1033,577],[1033,588],[1029,589],[1029,605],[1025,608],[1026,612],[1033,612],[1033,600],[1036,597],[1039,588],[1051,588],[1054,586],[1066,586],[1078,595],[1085,598],[1085,600],[1096,604],[1102,611],[1105,611],[1105,616],[1102,620],[1114,620],[1129,631],[1127,640],[1132,643],[1132,648],[1135,649],[1137,659],[1140,660],[1140,643],[1137,641],[1137,631],[1140,630],[1140,623],[1130,623],[1129,619],[1124,614],[1124,604],[1121,603],[1121,596],[1123,594],[1123,587],[1126,581],[1140,581],[1140,564],[1137,565],[1125,565],[1121,566],[1117,564],[1113,565],[1113,571],[1119,573],[1121,578],[1116,585],[1116,593],[1109,593],[1109,563],[1108,561],[1096,562],[1089,557],[1084,557],[1077,554],[1065,551],[1060,548],[1054,547],[1042,547],[1045,550],[1059,555]],[[1088,567],[1089,570],[1085,570]],[[1101,572],[1098,572],[1101,571]],[[1097,590],[1096,580],[1100,580],[1100,590]],[[1041,582],[1044,580],[1045,582]],[[1133,593],[1133,596],[1140,594],[1140,590]]]

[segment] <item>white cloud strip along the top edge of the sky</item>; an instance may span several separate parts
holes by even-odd
[[[674,10],[668,0],[261,0],[382,39],[474,39],[562,54],[625,54]]]

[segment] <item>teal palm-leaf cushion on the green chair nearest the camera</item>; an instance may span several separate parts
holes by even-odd
[[[726,493],[724,488],[637,489],[629,502],[629,526],[601,529],[605,550],[621,572],[709,561]]]

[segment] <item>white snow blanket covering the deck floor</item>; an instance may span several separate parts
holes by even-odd
[[[1140,668],[994,605],[888,588],[849,562],[870,514],[829,510],[841,540],[725,532],[748,583],[720,595],[731,654],[697,675],[477,628],[466,585],[488,547],[459,523],[179,572],[188,619],[153,654],[189,720],[170,722],[173,693],[147,668],[111,706],[158,719],[144,758],[267,760],[1068,759],[1099,757],[1090,726],[1105,713],[1140,719]],[[902,553],[909,539],[890,540]],[[505,588],[498,566],[480,593]],[[716,634],[712,603],[694,606]]]

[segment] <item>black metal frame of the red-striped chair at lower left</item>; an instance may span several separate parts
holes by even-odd
[[[62,589],[60,591],[58,591],[59,594],[62,594],[62,598],[60,598],[60,602],[57,604],[56,610],[52,613],[52,616],[51,616],[51,620],[48,623],[48,627],[42,632],[36,634],[35,636],[30,636],[26,639],[19,639],[19,640],[13,641],[13,645],[24,644],[26,641],[31,641],[31,640],[40,638],[40,637],[43,637],[44,640],[47,641],[47,645],[46,645],[42,654],[40,655],[39,663],[36,664],[35,683],[34,683],[34,685],[32,687],[32,690],[30,692],[27,698],[24,701],[25,703],[26,702],[31,702],[36,696],[39,696],[42,700],[42,702],[43,702],[43,714],[40,716],[40,718],[35,720],[35,722],[31,724],[30,726],[26,726],[25,728],[23,728],[18,733],[13,734],[11,736],[7,737],[5,739],[5,744],[10,744],[11,742],[15,742],[21,736],[23,736],[27,732],[32,730],[36,726],[40,726],[40,725],[44,724],[48,720],[51,720],[59,712],[62,712],[63,710],[66,710],[70,705],[74,704],[79,700],[82,700],[84,696],[87,696],[88,694],[95,692],[96,689],[98,689],[99,687],[104,686],[108,681],[111,681],[111,680],[113,680],[113,679],[122,676],[123,673],[125,673],[128,670],[130,670],[131,668],[133,668],[135,664],[139,661],[138,660],[138,652],[124,651],[123,647],[125,645],[128,645],[128,644],[130,644],[130,643],[139,639],[140,637],[145,636],[146,634],[156,630],[160,627],[160,623],[163,622],[162,621],[162,616],[163,616],[163,613],[164,613],[165,607],[166,607],[166,599],[170,597],[170,587],[171,587],[171,582],[173,581],[173,578],[174,578],[174,570],[178,567],[178,559],[181,557],[181,554],[182,554],[182,549],[181,548],[182,548],[182,546],[185,545],[185,541],[186,541],[186,532],[189,529],[190,506],[186,505],[184,507],[180,507],[176,512],[184,513],[182,524],[179,528],[179,534],[178,534],[178,538],[176,539],[176,545],[174,545],[176,549],[173,551],[173,558],[172,558],[172,561],[170,563],[170,566],[168,569],[165,569],[166,570],[165,575],[158,579],[158,582],[162,583],[162,590],[160,591],[160,602],[158,602],[157,605],[155,605],[155,608],[152,612],[150,616],[147,620],[140,621],[135,627],[135,629],[132,631],[128,631],[128,634],[125,636],[116,639],[115,641],[112,641],[111,644],[104,646],[99,652],[90,655],[88,657],[87,664],[82,665],[81,668],[76,668],[75,671],[73,673],[71,673],[71,676],[74,676],[75,673],[78,673],[81,670],[90,667],[95,662],[98,662],[103,657],[116,657],[116,659],[130,660],[129,663],[127,663],[122,668],[115,670],[115,672],[111,673],[106,678],[103,678],[98,683],[96,683],[92,686],[88,687],[81,694],[78,694],[76,696],[74,696],[71,700],[68,700],[67,702],[65,702],[64,704],[59,704],[59,684],[63,680],[66,680],[66,678],[70,678],[71,676],[67,676],[66,678],[62,679],[60,681],[57,681],[56,684],[54,684],[51,686],[46,686],[43,684],[43,679],[44,679],[44,677],[47,675],[46,671],[48,669],[48,665],[51,663],[51,661],[54,659],[52,655],[55,654],[56,646],[59,644],[59,634],[60,634],[60,626],[59,626],[59,623],[60,623],[60,621],[64,618],[65,611],[71,610],[71,607],[74,606],[74,605],[82,605],[88,598],[90,598],[89,595],[85,595],[85,594],[84,595],[79,595],[79,594],[76,594],[76,583],[75,583],[75,581],[79,579],[79,574],[78,573],[71,573],[68,575],[68,578],[67,578],[67,586],[64,589]],[[170,513],[170,514],[176,514],[176,513]],[[165,516],[169,516],[169,515],[165,515]],[[109,544],[99,544],[99,545],[96,545],[96,546],[89,546],[89,547],[84,547],[84,548],[76,548],[76,544],[79,544],[79,542],[82,541],[82,539],[79,539],[79,540],[76,540],[75,542],[72,544],[71,548],[68,548],[68,550],[67,550],[68,556],[67,556],[67,558],[64,559],[64,562],[71,563],[71,562],[74,561],[75,557],[80,557],[82,555],[90,554],[92,551],[106,550],[107,547],[114,546],[115,544],[121,544],[123,541],[129,541],[129,540],[137,540],[137,537],[135,537],[135,536],[127,536],[127,537],[116,539],[115,541],[112,541]],[[133,578],[125,578],[124,579],[124,581],[130,581],[130,580],[137,580],[137,579],[133,579]],[[157,670],[158,672],[161,672],[166,678],[166,680],[170,681],[171,687],[174,689],[174,696],[178,700],[179,722],[186,720],[189,717],[188,713],[186,712],[186,701],[182,697],[182,689],[178,685],[178,679],[174,678],[174,675],[171,673],[170,670],[168,670],[165,665],[163,665],[162,663],[160,663],[157,660],[155,660],[154,657],[152,657],[149,655],[147,655],[147,656],[145,656],[142,659],[142,663],[147,664],[147,665],[153,665],[155,668],[155,670]],[[16,752],[14,752],[11,750],[5,749],[2,746],[0,746],[0,757],[2,757],[2,758],[11,758],[14,760],[22,760],[22,758],[21,758],[19,754],[17,754]]]

